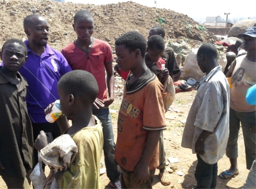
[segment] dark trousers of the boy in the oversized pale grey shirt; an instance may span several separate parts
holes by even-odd
[[[218,166],[217,163],[210,165],[196,154],[198,159],[195,168],[196,186],[194,188],[215,188],[217,183]]]

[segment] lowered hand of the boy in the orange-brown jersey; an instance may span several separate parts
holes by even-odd
[[[139,162],[135,167],[135,182],[143,184],[149,179],[149,166],[144,165],[143,162]]]

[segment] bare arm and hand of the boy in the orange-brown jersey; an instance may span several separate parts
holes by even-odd
[[[135,167],[135,182],[142,184],[149,179],[149,163],[153,158],[155,149],[157,147],[161,131],[150,131],[147,137],[146,148],[143,156]]]

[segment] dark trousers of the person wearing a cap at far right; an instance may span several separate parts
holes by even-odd
[[[226,156],[230,159],[238,157],[238,134],[240,122],[242,125],[243,141],[246,148],[246,168],[250,170],[252,162],[256,159],[256,134],[251,133],[250,128],[256,119],[256,111],[240,112],[229,110],[229,137],[226,148]]]

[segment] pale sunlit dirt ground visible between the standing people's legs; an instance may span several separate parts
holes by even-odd
[[[174,102],[172,104],[172,108],[174,110],[178,109],[178,112],[168,111],[166,113],[166,123],[167,130],[164,131],[164,140],[165,140],[165,148],[166,148],[166,158],[173,157],[178,158],[178,163],[172,163],[170,165],[176,165],[178,167],[177,171],[181,171],[184,175],[179,176],[177,171],[170,174],[171,177],[171,185],[163,186],[160,183],[160,179],[158,176],[159,171],[156,170],[154,176],[154,186],[153,188],[192,188],[195,184],[194,178],[194,169],[196,167],[196,155],[192,154],[191,149],[182,148],[180,146],[184,122],[187,119],[188,112],[192,105],[193,99],[195,97],[196,91],[193,90],[191,92],[184,92],[176,94]],[[118,113],[114,110],[119,110],[121,103],[121,97],[116,97],[114,103],[110,106],[113,113],[111,113],[112,124],[113,124],[113,132],[114,139],[117,140],[117,118]],[[239,166],[239,174],[237,177],[224,180],[218,177],[216,188],[241,188],[243,183],[246,181],[249,170],[246,169],[246,157],[245,157],[245,146],[243,143],[243,136],[240,133],[239,140],[239,156],[238,156],[238,166]],[[102,155],[101,161],[104,162],[104,157]],[[218,161],[218,174],[230,166],[228,158],[224,155],[222,159]],[[46,174],[49,173],[49,169],[46,169]],[[107,178],[107,174],[104,173],[101,176],[102,182],[106,188],[112,188],[109,179]],[[5,182],[0,178],[0,188],[7,188]],[[32,188],[32,187],[31,187]]]

